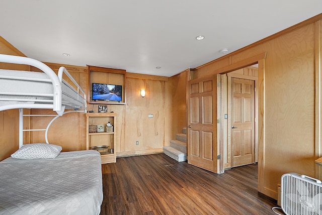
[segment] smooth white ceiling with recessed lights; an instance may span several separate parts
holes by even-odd
[[[321,12],[321,0],[1,0],[0,36],[43,62],[172,76]]]

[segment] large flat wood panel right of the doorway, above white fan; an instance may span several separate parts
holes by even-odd
[[[265,61],[264,174],[270,180],[264,186],[273,190],[274,195],[283,173],[315,176],[312,27],[309,25],[274,40],[268,52],[272,54]]]

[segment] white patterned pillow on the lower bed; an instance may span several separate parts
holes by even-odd
[[[17,159],[46,159],[55,158],[61,151],[61,146],[46,144],[46,143],[32,143],[23,145],[14,154],[11,155]]]

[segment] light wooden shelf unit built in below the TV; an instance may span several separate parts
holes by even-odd
[[[109,146],[108,152],[101,153],[102,164],[104,163],[116,163],[115,149],[115,118],[116,113],[86,113],[86,148],[91,149],[94,146]],[[110,122],[113,126],[113,132],[106,132],[106,124]],[[89,127],[93,125],[103,125],[104,132],[89,133]],[[110,153],[110,149],[113,149],[113,153]],[[100,151],[101,152],[101,151]]]

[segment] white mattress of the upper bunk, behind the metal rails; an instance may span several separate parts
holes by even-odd
[[[85,98],[65,80],[61,83],[66,109],[84,109]],[[44,72],[0,69],[0,105],[52,104],[53,85]]]

